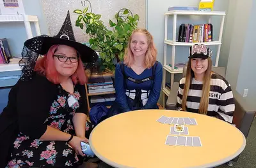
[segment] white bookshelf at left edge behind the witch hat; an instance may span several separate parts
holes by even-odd
[[[24,22],[26,28],[27,39],[33,38],[31,23],[35,25],[36,36],[40,36],[40,27],[38,17],[33,15],[0,15],[0,22]],[[14,59],[13,59],[14,60]],[[15,63],[14,63],[15,62]],[[10,64],[0,64],[0,73],[8,71],[20,71],[20,66],[15,60]]]

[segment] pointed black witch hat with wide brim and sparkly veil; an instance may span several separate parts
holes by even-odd
[[[74,47],[79,52],[81,60],[84,63],[96,62],[98,59],[97,53],[92,48],[76,42],[72,24],[70,22],[69,11],[67,17],[56,36],[36,36],[28,39],[24,43],[22,51],[22,59],[19,64],[22,66],[22,78],[27,78],[33,74],[38,55],[45,55],[52,45],[67,45]]]

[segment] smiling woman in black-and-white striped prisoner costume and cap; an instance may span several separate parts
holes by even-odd
[[[194,45],[189,52],[186,78],[182,78],[179,85],[178,110],[214,116],[232,123],[234,97],[228,81],[211,71],[211,49]]]

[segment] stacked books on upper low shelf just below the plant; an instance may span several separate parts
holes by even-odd
[[[87,86],[89,94],[115,91],[111,76],[90,78]]]

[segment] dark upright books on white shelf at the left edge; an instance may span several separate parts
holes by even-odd
[[[6,38],[0,39],[0,64],[10,63],[12,54]]]

